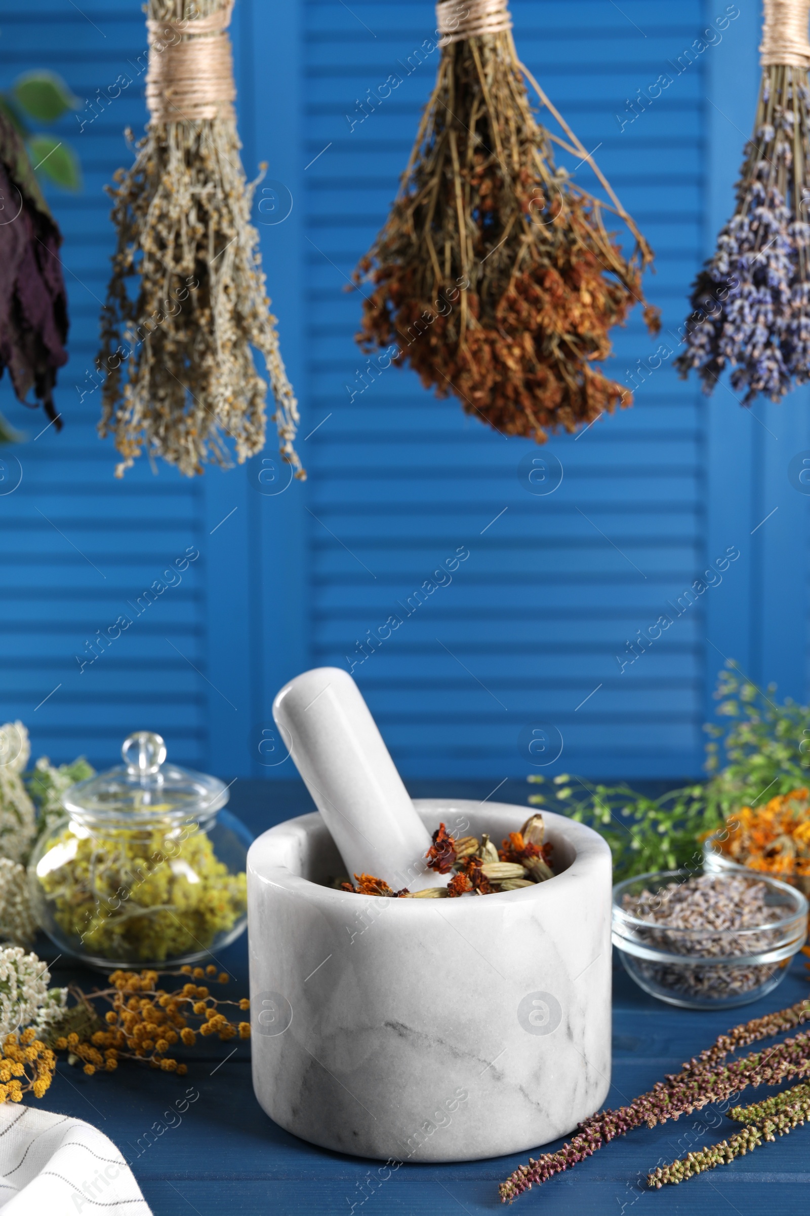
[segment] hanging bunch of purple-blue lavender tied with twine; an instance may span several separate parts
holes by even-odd
[[[765,0],[763,80],[737,207],[692,287],[686,349],[706,393],[731,368],[749,405],[810,379],[810,0]]]

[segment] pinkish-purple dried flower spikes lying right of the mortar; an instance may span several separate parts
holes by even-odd
[[[808,1032],[786,1038],[765,1052],[752,1052],[730,1064],[723,1062],[730,1052],[791,1030],[808,1019],[810,1001],[799,1001],[788,1009],[754,1018],[735,1026],[726,1035],[720,1035],[712,1047],[684,1064],[680,1073],[658,1081],[629,1105],[619,1107],[618,1110],[602,1110],[585,1119],[570,1144],[563,1144],[556,1153],[544,1153],[537,1160],[529,1158],[528,1165],[519,1166],[511,1177],[500,1183],[502,1201],[511,1203],[523,1190],[529,1190],[533,1183],[546,1182],[555,1173],[571,1169],[591,1156],[602,1144],[641,1124],[655,1127],[668,1119],[699,1110],[710,1102],[724,1102],[749,1085],[778,1085],[781,1081],[806,1076],[810,1074]]]

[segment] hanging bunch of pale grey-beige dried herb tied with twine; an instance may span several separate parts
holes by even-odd
[[[102,437],[114,435],[121,477],[146,451],[188,475],[242,462],[265,444],[266,383],[282,458],[298,405],[267,311],[255,182],[245,181],[233,113],[227,26],[233,0],[148,0],[151,120],[131,169],[119,170],[118,248],[102,310]],[[140,278],[135,298],[128,289]]]

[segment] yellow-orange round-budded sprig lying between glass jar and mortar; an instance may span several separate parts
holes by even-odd
[[[182,976],[187,983],[168,992],[157,986],[163,975]],[[217,975],[216,967],[210,963],[205,969],[181,967],[179,972],[113,972],[111,987],[91,992],[70,985],[77,1002],[89,1010],[95,1012],[96,1002],[109,1006],[104,1014],[106,1029],[89,1032],[86,1037],[73,1031],[56,1038],[53,1046],[69,1053],[70,1064],[84,1060],[89,1076],[96,1071],[113,1073],[120,1059],[145,1060],[151,1068],[182,1076],[187,1065],[166,1054],[176,1043],[193,1047],[198,1036],[211,1035],[219,1035],[222,1042],[237,1035],[250,1037],[249,1021],[231,1021],[222,1012],[223,1006],[249,1009],[249,1000],[227,1001],[211,996],[206,985],[196,983],[206,978],[217,984],[228,983],[228,975],[225,972]]]

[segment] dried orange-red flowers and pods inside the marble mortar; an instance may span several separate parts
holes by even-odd
[[[554,878],[554,871],[545,861],[551,855],[551,845],[543,844],[544,824],[542,815],[532,815],[521,832],[510,833],[504,849],[498,850],[485,832],[477,837],[460,837],[455,840],[443,823],[438,824],[432,835],[432,844],[426,852],[427,866],[440,874],[454,871],[447,886],[431,886],[421,891],[409,891],[403,888],[393,891],[381,878],[372,874],[355,874],[355,883],[341,883],[341,890],[358,895],[385,895],[397,899],[458,899],[461,895],[494,895],[497,891],[515,891],[521,886],[533,886],[548,878]],[[519,850],[516,852],[515,850]]]

